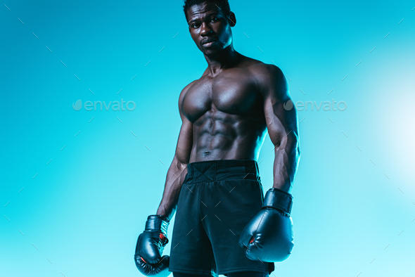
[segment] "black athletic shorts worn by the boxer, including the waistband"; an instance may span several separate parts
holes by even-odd
[[[271,273],[274,263],[253,261],[239,246],[264,194],[255,160],[213,160],[187,165],[177,203],[169,271]]]

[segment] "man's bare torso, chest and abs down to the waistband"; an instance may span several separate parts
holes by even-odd
[[[182,110],[193,124],[189,162],[257,160],[267,124],[264,103],[255,84],[257,60],[245,58],[238,67],[208,74],[193,82]]]

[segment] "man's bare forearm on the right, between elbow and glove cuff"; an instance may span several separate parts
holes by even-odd
[[[274,184],[272,187],[290,193],[300,160],[297,134],[291,131],[274,151]]]

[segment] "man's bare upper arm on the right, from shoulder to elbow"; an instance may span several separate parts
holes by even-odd
[[[299,154],[297,111],[294,105],[285,106],[287,101],[291,101],[286,77],[279,67],[265,65],[260,78],[269,139],[276,148],[287,144],[295,146]]]

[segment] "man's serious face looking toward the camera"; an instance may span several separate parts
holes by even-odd
[[[232,13],[233,15],[233,13]],[[212,3],[193,5],[187,11],[189,31],[198,49],[209,58],[218,57],[232,44],[229,18]]]

